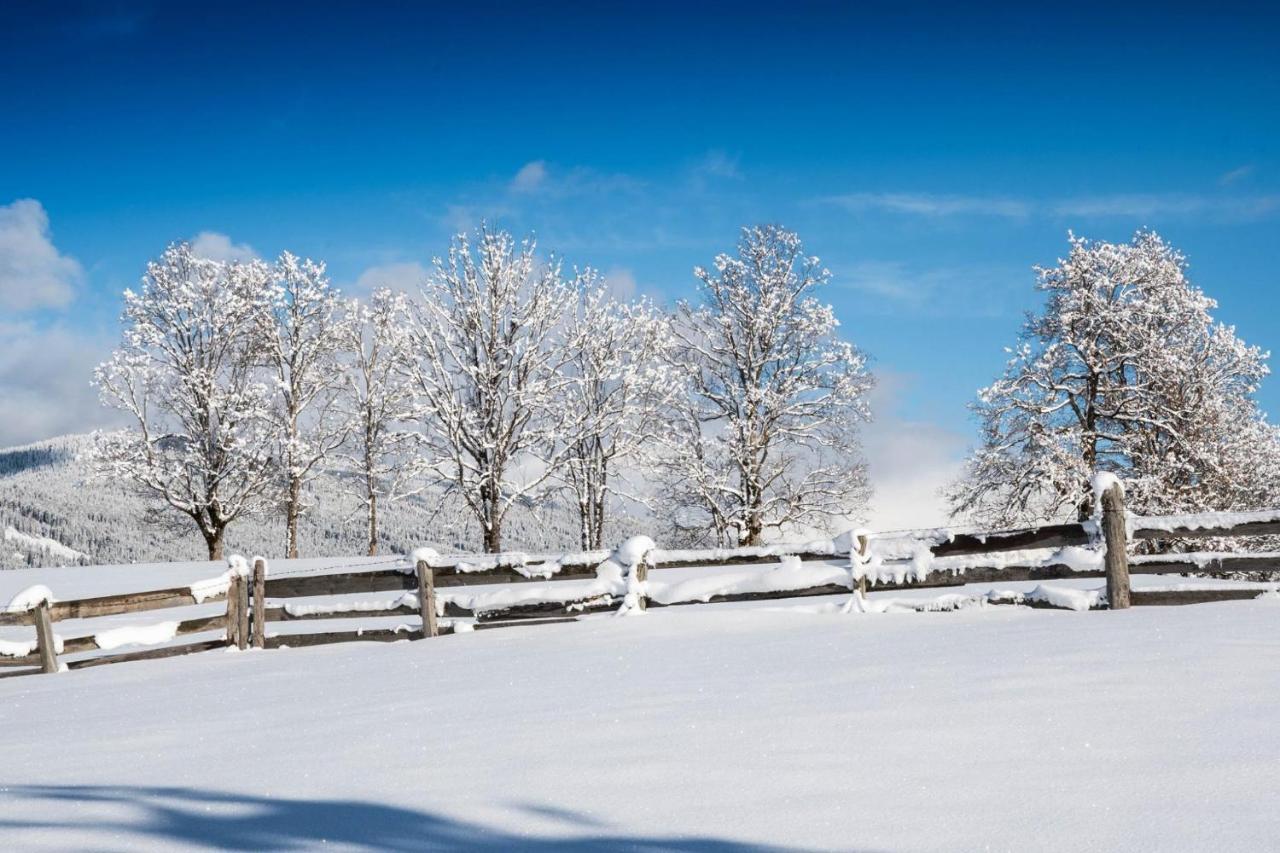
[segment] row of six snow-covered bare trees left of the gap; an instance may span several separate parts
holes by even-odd
[[[99,437],[96,467],[189,519],[215,560],[229,525],[271,512],[297,556],[326,473],[364,505],[370,553],[379,507],[415,493],[465,502],[490,552],[513,506],[557,496],[584,548],[621,501],[686,543],[860,511],[872,379],[815,297],[829,273],[764,225],[695,277],[699,297],[667,311],[480,229],[419,293],[343,300],[320,263],[174,245],[125,292],[96,371],[132,420]]]

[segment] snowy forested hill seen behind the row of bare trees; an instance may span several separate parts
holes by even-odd
[[[0,569],[23,566],[160,562],[202,560],[204,540],[189,521],[148,523],[147,502],[125,484],[88,478],[90,435],[67,435],[0,450]],[[300,551],[305,557],[358,556],[365,552],[364,516],[337,475],[321,478],[317,505],[303,519]],[[407,553],[429,544],[442,552],[479,549],[475,521],[457,501],[436,494],[379,507],[383,553]],[[613,538],[643,524],[620,515]],[[504,525],[512,549],[577,548],[577,521],[562,502],[512,510]],[[284,525],[278,519],[233,524],[228,553],[283,552]]]

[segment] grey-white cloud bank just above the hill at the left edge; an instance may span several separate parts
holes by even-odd
[[[0,324],[0,447],[120,424],[90,384],[111,346],[64,327]]]

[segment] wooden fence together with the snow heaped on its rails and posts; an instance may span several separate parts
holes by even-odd
[[[1252,598],[1257,589],[1130,592],[1130,567],[1140,574],[1280,570],[1280,553],[1179,553],[1129,556],[1134,539],[1219,538],[1280,534],[1280,510],[1162,517],[1125,516],[1119,483],[1101,491],[1100,521],[1052,524],[1021,530],[955,534],[945,529],[896,534],[854,532],[829,540],[745,548],[667,551],[646,537],[614,551],[563,556],[522,553],[444,558],[429,549],[408,565],[371,571],[282,574],[271,576],[264,558],[252,569],[232,557],[223,575],[191,587],[154,589],[77,601],[56,601],[35,587],[0,611],[0,626],[29,625],[29,642],[0,640],[0,675],[56,672],[124,661],[169,657],[215,648],[280,648],[355,640],[396,642],[511,625],[572,621],[598,612],[650,607],[850,594],[852,610],[876,610],[868,590],[959,587],[966,583],[1106,578],[1106,596],[1083,590],[1038,589],[1028,594],[992,593],[988,603],[1119,610],[1130,605],[1185,605]],[[666,581],[650,570],[771,566],[746,576],[692,576]],[[559,593],[532,581],[580,581]],[[468,589],[483,587],[483,589]],[[497,587],[497,588],[495,588]],[[297,603],[289,599],[399,592],[390,601]],[[1056,593],[1071,593],[1066,597]],[[910,605],[914,610],[954,610],[964,598]],[[52,625],[227,602],[221,613],[115,628],[63,638]],[[273,622],[407,617],[394,628],[270,633]],[[467,621],[470,620],[470,621]],[[214,639],[170,646],[175,638],[218,633]],[[59,656],[142,651],[60,662]]]

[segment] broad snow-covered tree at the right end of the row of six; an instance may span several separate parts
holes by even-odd
[[[867,359],[836,337],[815,292],[831,274],[778,225],[744,228],[736,257],[695,270],[672,364],[686,398],[650,455],[677,535],[710,528],[756,544],[767,530],[823,525],[868,497],[858,428],[869,418]]]

